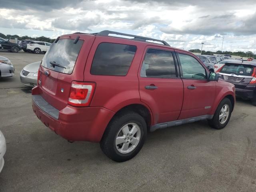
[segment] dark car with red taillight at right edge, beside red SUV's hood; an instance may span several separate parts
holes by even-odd
[[[250,99],[256,106],[256,63],[239,60],[227,61],[217,70],[220,79],[233,83],[236,96]]]

